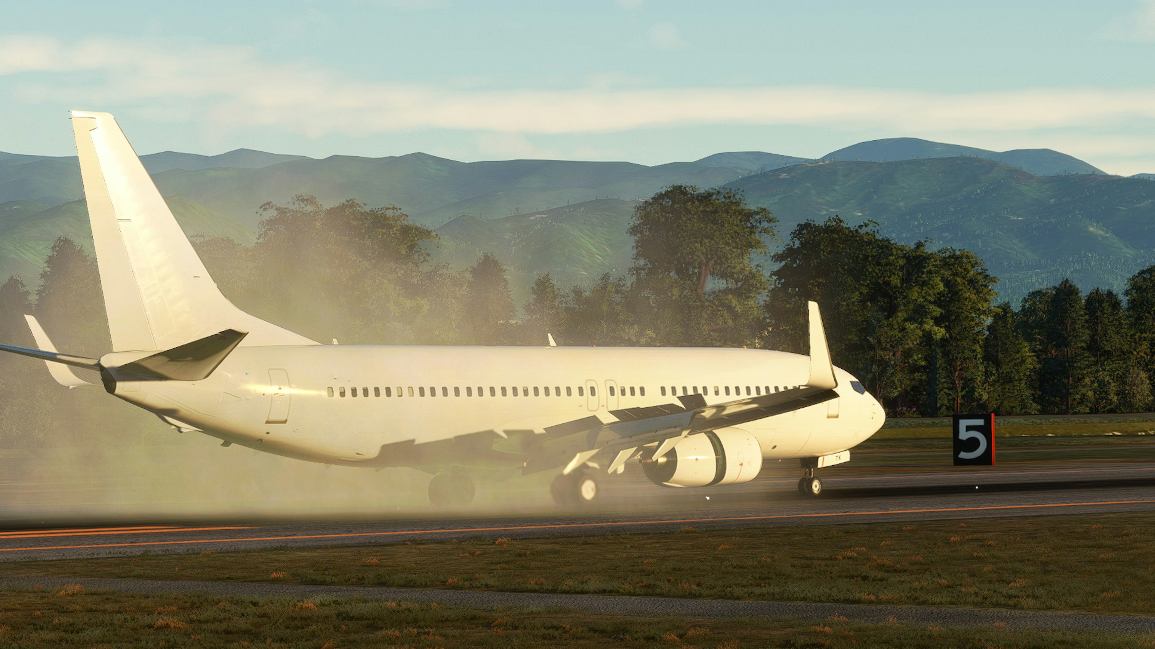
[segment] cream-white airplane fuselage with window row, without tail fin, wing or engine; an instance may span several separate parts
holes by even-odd
[[[140,355],[118,352],[106,366]],[[707,404],[804,385],[808,357],[746,349],[301,345],[238,348],[201,381],[116,382],[116,396],[232,443],[314,462],[404,465],[389,445],[543,432],[610,411]],[[854,376],[839,398],[750,422],[765,458],[851,448],[885,420]],[[116,371],[113,370],[113,373]],[[382,452],[382,447],[385,450]],[[512,457],[511,457],[512,460]],[[492,457],[459,458],[492,465]]]

